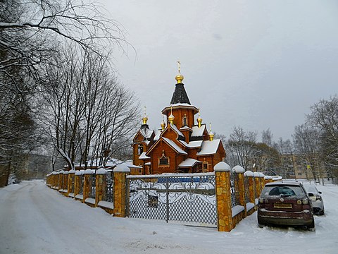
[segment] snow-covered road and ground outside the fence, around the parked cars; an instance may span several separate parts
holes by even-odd
[[[256,212],[230,233],[213,228],[116,218],[45,186],[0,189],[0,253],[338,253],[338,187],[323,191],[316,231],[265,227]]]

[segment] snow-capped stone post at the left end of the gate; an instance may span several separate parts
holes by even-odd
[[[126,179],[130,168],[119,164],[114,168],[114,216],[125,217]]]

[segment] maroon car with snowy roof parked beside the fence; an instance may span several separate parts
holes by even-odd
[[[258,200],[258,226],[307,226],[315,231],[313,207],[303,185],[281,181],[265,184]]]

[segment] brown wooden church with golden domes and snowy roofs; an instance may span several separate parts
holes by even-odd
[[[222,141],[213,138],[199,109],[190,104],[180,66],[178,72],[170,105],[162,110],[161,129],[156,133],[150,130],[144,113],[134,136],[132,162],[142,167],[141,174],[211,172],[225,159]]]

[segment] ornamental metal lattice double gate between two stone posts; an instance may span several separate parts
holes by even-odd
[[[127,216],[217,226],[215,174],[127,176]]]

